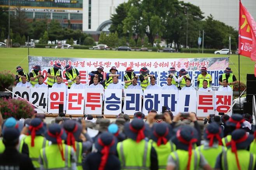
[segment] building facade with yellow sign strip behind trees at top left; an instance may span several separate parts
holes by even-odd
[[[8,7],[8,0],[0,0],[1,7]],[[16,8],[25,11],[28,20],[56,19],[63,28],[82,30],[82,0],[10,0],[10,9],[15,14]]]

